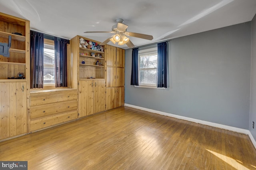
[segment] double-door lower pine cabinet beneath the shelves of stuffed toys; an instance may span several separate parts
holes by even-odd
[[[105,111],[105,80],[79,81],[79,117]]]

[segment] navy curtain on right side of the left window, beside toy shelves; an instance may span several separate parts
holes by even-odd
[[[68,86],[67,43],[69,43],[69,40],[54,38],[55,87]]]

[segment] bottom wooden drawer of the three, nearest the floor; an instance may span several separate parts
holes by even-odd
[[[72,112],[63,113],[60,115],[53,115],[53,116],[42,118],[42,119],[36,119],[34,121],[30,121],[30,131],[38,130],[40,128],[45,128],[45,127],[50,127],[52,125],[71,121],[76,118],[77,118],[77,111],[72,111]]]

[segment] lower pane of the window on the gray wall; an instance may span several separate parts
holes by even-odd
[[[140,70],[139,84],[156,84],[156,69]]]

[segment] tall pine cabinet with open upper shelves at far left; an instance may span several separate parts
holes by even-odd
[[[0,49],[9,36],[9,57],[0,55],[0,140],[28,132],[30,22],[0,12]]]

